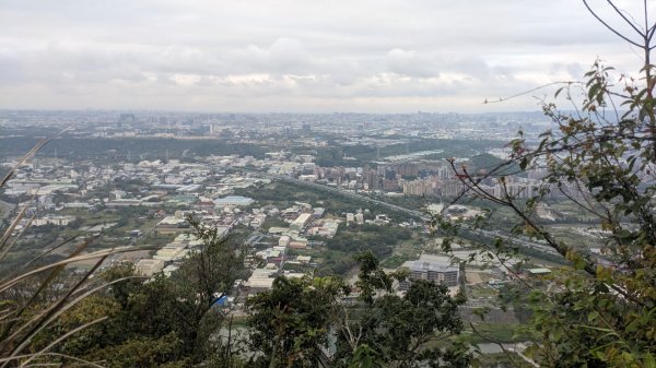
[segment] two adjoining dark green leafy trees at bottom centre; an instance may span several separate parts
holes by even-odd
[[[279,277],[248,300],[255,367],[469,367],[468,347],[448,288],[419,281],[393,293],[372,251],[356,256],[354,289],[337,277]],[[353,293],[355,292],[355,293]]]

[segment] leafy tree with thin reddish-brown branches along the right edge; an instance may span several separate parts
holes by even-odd
[[[531,289],[531,324],[542,335],[529,353],[536,353],[541,366],[656,367],[656,78],[651,63],[656,24],[649,20],[646,1],[644,13],[634,14],[639,21],[614,1],[606,2],[631,29],[626,33],[610,25],[588,1],[583,3],[604,26],[643,52],[639,74],[618,75],[597,60],[585,81],[566,83],[555,93],[555,98],[575,104],[573,112],[543,104],[557,129],[542,133],[538,142],[520,134],[511,144],[511,159],[485,176],[453,162],[452,166],[467,188],[466,195],[511,209],[516,236],[541,240],[569,261],[550,280],[548,290],[524,282]],[[534,187],[536,195],[520,199],[513,179],[500,174],[512,165],[542,177]],[[500,194],[481,185],[489,179],[496,182]],[[601,254],[550,232],[538,210],[553,197],[597,218],[597,228],[606,234],[599,244]],[[448,238],[491,226],[493,221],[481,216],[464,225],[434,218],[447,236],[446,249]],[[505,237],[478,247],[502,263],[518,253]]]

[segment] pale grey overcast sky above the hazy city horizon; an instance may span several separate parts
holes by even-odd
[[[535,110],[482,102],[597,56],[641,67],[577,0],[0,0],[0,108]]]

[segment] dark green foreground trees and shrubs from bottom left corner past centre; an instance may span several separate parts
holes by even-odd
[[[246,324],[233,331],[239,312],[218,300],[246,275],[242,241],[196,228],[204,246],[171,276],[144,282],[121,264],[95,280],[83,277],[74,290],[93,294],[28,336],[21,337],[51,301],[4,294],[2,306],[13,318],[1,324],[3,361],[126,368],[469,365],[467,346],[450,340],[462,330],[457,308],[464,299],[429,282],[414,283],[403,297],[393,294],[394,280],[405,275],[384,273],[373,252],[355,259],[355,289],[335,276],[277,278],[270,292],[246,301]],[[335,346],[329,354],[328,346]]]

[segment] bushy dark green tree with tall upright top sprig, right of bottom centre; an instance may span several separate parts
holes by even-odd
[[[359,302],[338,309],[335,367],[468,367],[471,356],[456,336],[462,330],[458,306],[446,286],[414,281],[394,293],[405,272],[386,273],[372,251],[356,254]]]

